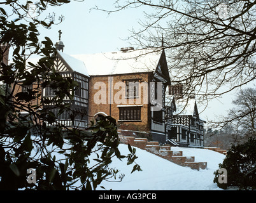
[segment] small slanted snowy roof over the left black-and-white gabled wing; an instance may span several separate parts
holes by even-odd
[[[69,68],[71,68],[73,71],[89,76],[87,67],[85,66],[85,63],[83,63],[81,60],[78,60],[77,58],[67,55],[66,53],[63,53],[61,51],[57,51],[57,53],[61,56],[61,58],[69,65]]]

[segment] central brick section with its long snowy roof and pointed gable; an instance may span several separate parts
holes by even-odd
[[[165,142],[165,92],[170,79],[164,50],[122,48],[76,58],[90,75],[90,116],[111,115],[119,129],[143,131]]]

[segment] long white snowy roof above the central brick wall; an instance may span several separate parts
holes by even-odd
[[[161,53],[162,50],[132,49],[73,57],[85,63],[89,75],[111,75],[154,71]]]

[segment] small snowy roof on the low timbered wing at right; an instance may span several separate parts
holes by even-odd
[[[175,101],[176,111],[174,115],[194,115],[196,100],[194,98],[179,99]]]

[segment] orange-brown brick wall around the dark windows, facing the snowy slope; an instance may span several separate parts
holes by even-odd
[[[118,88],[117,82],[124,82],[129,79],[136,79],[143,84],[142,82],[149,82],[152,77],[152,72],[145,73],[132,73],[132,74],[120,74],[120,75],[91,75],[89,81],[89,115],[93,119],[94,115],[101,112],[101,114],[111,115],[117,121],[119,120],[119,108],[120,105],[139,105],[141,106],[141,121],[132,121],[132,122],[122,122],[118,121],[118,126],[120,129],[131,129],[134,131],[150,131],[150,114],[148,109],[148,104],[144,103],[144,94],[143,91],[140,92],[137,100],[135,98],[125,98],[126,104],[121,101],[124,95],[121,94],[121,89],[125,90],[124,87]],[[111,79],[113,79],[113,85],[111,85]],[[145,83],[144,83],[145,84]],[[115,86],[116,85],[116,86]],[[104,93],[106,89],[106,93]],[[110,89],[112,93],[110,95]],[[141,88],[142,90],[142,88]],[[124,93],[125,94],[125,93]],[[118,95],[120,95],[118,97]],[[148,92],[145,94],[148,96]],[[110,100],[111,96],[111,100]],[[117,98],[117,100],[115,100]],[[138,103],[138,99],[140,102]],[[119,100],[118,100],[119,99]],[[111,102],[110,102],[111,101]],[[119,101],[121,103],[117,103]],[[149,101],[148,101],[149,102]],[[119,105],[119,107],[118,107]],[[122,108],[122,107],[121,107]],[[103,115],[104,115],[103,114]]]

